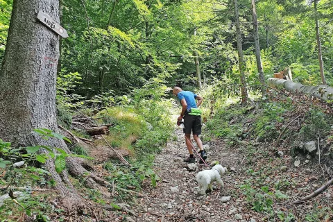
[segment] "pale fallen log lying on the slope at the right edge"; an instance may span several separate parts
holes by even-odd
[[[288,92],[292,93],[301,92],[304,94],[309,94],[311,96],[316,96],[318,99],[322,99],[324,101],[333,99],[333,87],[329,87],[327,85],[302,85],[291,80],[284,80],[280,78],[268,78],[267,83],[270,87],[284,88]]]

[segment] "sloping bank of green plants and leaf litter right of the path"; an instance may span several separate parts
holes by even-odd
[[[284,158],[277,158],[275,151],[282,150],[291,157],[297,155],[305,159],[309,153],[300,149],[300,144],[311,140],[318,142],[319,138],[321,160],[333,160],[330,113],[325,103],[296,96],[271,96],[268,101],[257,100],[248,105],[221,105],[207,121],[205,131],[209,137],[223,139],[231,150],[237,148],[245,156],[247,179],[240,183],[239,189],[250,209],[266,215],[262,221],[299,219],[293,210],[280,207],[293,201],[292,190],[300,181],[288,173],[279,173],[280,167],[287,163]],[[278,147],[275,147],[279,137]],[[311,156],[318,161],[316,153]],[[332,209],[325,207],[325,198],[314,205],[318,207],[312,207],[307,215],[302,215],[303,221],[330,219]]]

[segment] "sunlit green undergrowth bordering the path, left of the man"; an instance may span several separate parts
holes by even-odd
[[[156,186],[158,178],[153,171],[153,161],[171,138],[174,129],[171,123],[172,103],[165,99],[166,89],[160,80],[152,79],[146,87],[136,89],[133,97],[122,100],[121,105],[106,107],[95,115],[98,123],[113,124],[110,133],[105,135],[108,143],[130,153],[126,159],[132,167],[119,160],[103,163],[103,169],[108,171],[105,180],[111,184],[138,192],[144,182],[148,182],[151,187]],[[105,146],[101,139],[97,144]],[[112,200],[114,203],[135,201],[133,194],[120,189],[116,191],[117,195]]]

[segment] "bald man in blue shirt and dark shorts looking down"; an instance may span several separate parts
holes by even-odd
[[[182,105],[182,112],[180,112],[180,116],[178,117],[178,121],[182,121],[184,119],[184,129],[185,133],[185,142],[187,146],[187,150],[189,151],[189,157],[185,159],[185,162],[194,163],[196,162],[196,157],[194,157],[192,144],[191,144],[191,132],[193,133],[193,138],[198,144],[200,148],[200,156],[205,161],[207,158],[207,153],[203,149],[203,142],[199,138],[201,134],[201,110],[198,107],[203,102],[203,97],[200,97],[193,92],[190,91],[182,91],[180,87],[174,87],[172,91],[173,95],[177,96],[180,104]],[[196,103],[198,100],[198,103]],[[203,161],[200,159],[200,163]]]

